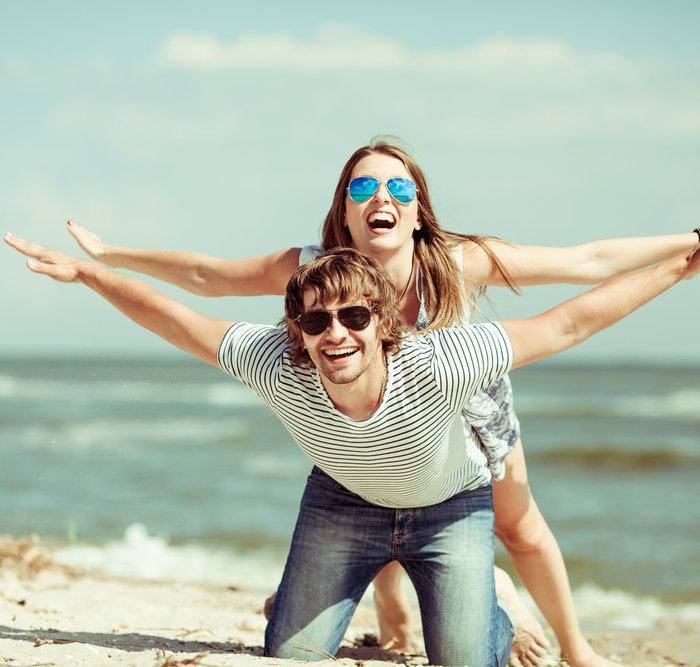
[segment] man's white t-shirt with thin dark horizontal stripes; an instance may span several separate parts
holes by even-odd
[[[512,365],[495,322],[405,338],[388,355],[381,405],[358,421],[339,412],[313,367],[292,364],[284,329],[239,322],[224,336],[221,368],[254,389],[302,451],[340,484],[375,505],[422,507],[491,481],[460,413]]]

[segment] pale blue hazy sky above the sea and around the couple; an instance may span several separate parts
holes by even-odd
[[[76,254],[67,219],[225,257],[305,245],[350,154],[390,134],[448,229],[552,246],[689,232],[699,32],[694,0],[0,2],[2,231]],[[0,280],[0,356],[173,354],[6,246]],[[216,317],[282,313],[151,282]],[[582,289],[492,289],[492,317]],[[700,363],[699,301],[685,282],[563,359]]]

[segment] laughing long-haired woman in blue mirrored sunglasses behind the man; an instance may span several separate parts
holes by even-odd
[[[413,205],[413,201],[417,205]],[[282,294],[300,261],[313,248],[287,248],[264,257],[225,260],[196,253],[141,250],[104,244],[69,223],[94,259],[140,271],[205,296]],[[515,246],[446,232],[433,211],[425,177],[398,146],[375,142],[357,150],[340,175],[326,217],[324,248],[352,245],[387,270],[408,322],[437,328],[468,316],[472,296],[488,285],[593,284],[689,251],[700,232],[613,239],[570,248]],[[494,477],[496,534],[523,584],[557,636],[572,667],[606,667],[583,637],[564,560],[530,492],[509,384],[502,383],[470,406],[466,417],[478,433]],[[466,429],[465,437],[472,437]],[[505,472],[505,474],[504,474]],[[400,592],[397,564],[375,580],[382,644],[410,643],[409,612]],[[523,664],[537,664],[544,637],[516,647]]]

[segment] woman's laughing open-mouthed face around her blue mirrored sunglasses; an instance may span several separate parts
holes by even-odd
[[[413,250],[413,232],[420,229],[417,197],[401,204],[386,189],[390,178],[413,180],[404,164],[382,153],[362,158],[352,170],[350,180],[372,176],[379,181],[377,191],[365,202],[358,203],[345,195],[345,226],[355,248],[372,256],[396,252],[407,245]]]

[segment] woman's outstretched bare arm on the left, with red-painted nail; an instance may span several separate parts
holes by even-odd
[[[113,246],[70,220],[68,231],[92,259],[172,283],[201,296],[284,294],[299,266],[299,248],[246,259],[221,259],[197,252]]]

